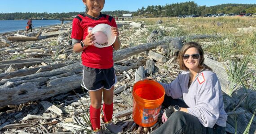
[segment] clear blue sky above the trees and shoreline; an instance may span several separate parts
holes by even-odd
[[[189,0],[106,0],[102,11],[128,10],[137,11],[151,5],[181,3]],[[256,0],[194,0],[200,6],[218,4],[256,4]],[[33,13],[68,13],[83,12],[82,0],[1,0],[0,13],[33,12]]]

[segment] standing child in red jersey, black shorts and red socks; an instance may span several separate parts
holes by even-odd
[[[120,48],[117,25],[113,17],[101,13],[105,0],[83,0],[83,2],[86,6],[86,14],[79,14],[74,18],[71,38],[73,50],[82,52],[83,80],[81,85],[90,93],[90,121],[93,133],[102,134],[100,112],[103,93],[104,116],[102,120],[108,130],[117,134],[122,132],[121,127],[112,123],[113,91],[116,82],[113,50]],[[101,23],[110,25],[113,34],[117,37],[112,46],[97,48],[93,45],[95,36],[91,30]]]

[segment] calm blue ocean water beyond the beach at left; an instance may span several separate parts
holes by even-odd
[[[27,20],[10,20],[10,21],[0,21],[0,33],[17,31],[17,30],[25,30],[26,29]],[[70,21],[64,21],[64,23]],[[32,29],[48,26],[48,25],[56,25],[61,24],[60,20],[32,20]]]

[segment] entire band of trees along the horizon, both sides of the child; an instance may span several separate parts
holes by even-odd
[[[216,14],[216,13],[256,13],[256,4],[220,4],[216,6],[199,6],[194,1],[166,4],[166,5],[151,5],[147,8],[139,8],[137,12],[124,10],[102,12],[111,16],[122,17],[124,13],[132,13],[133,16],[148,16],[148,17],[176,17],[178,15],[199,15]],[[24,19],[60,19],[70,18],[84,12],[70,13],[0,13],[0,20],[24,20]]]

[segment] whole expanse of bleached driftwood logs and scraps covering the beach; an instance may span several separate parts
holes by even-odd
[[[165,83],[172,82],[181,72],[176,59],[182,42],[187,38],[166,37],[163,40],[139,42],[137,44],[140,45],[132,46],[138,40],[127,40],[128,37],[131,38],[127,32],[143,29],[139,24],[133,23],[132,27],[119,29],[122,49],[115,51],[113,58],[118,80],[114,90],[113,121],[126,134],[150,134],[162,124],[158,121],[149,128],[138,126],[132,120],[131,99],[125,98],[130,96],[133,84],[144,77],[152,76]],[[5,40],[7,45],[2,48],[4,53],[0,53],[0,133],[83,134],[91,131],[86,123],[86,113],[91,101],[88,92],[81,90],[80,54],[72,52],[70,27],[71,24],[66,24],[43,29],[38,41],[6,42],[14,33],[2,36],[1,40]],[[190,36],[191,39],[219,37],[217,34]],[[13,55],[19,57],[12,59]],[[227,87],[230,82],[225,68],[212,59],[214,58],[206,58],[205,63],[212,67],[221,81],[225,111],[229,115],[226,132],[234,134],[237,124],[237,133],[243,133],[252,112],[241,103],[243,92],[238,90],[236,95],[228,95]],[[7,67],[12,67],[13,70],[5,72]],[[250,97],[253,98],[253,95]],[[256,119],[252,121],[250,134],[255,129]],[[109,133],[103,125],[102,130]]]

